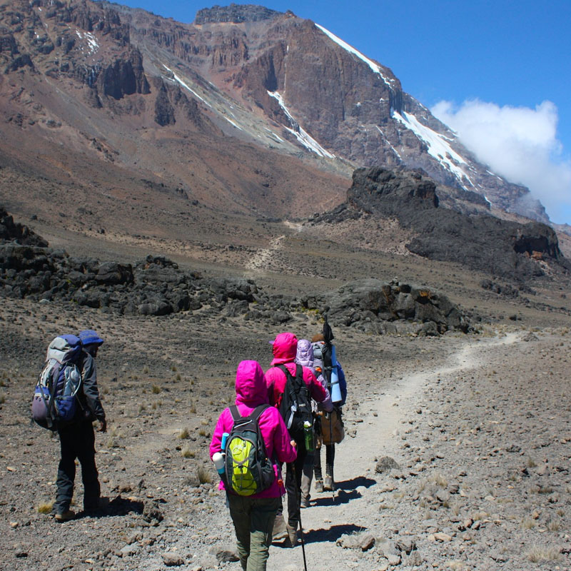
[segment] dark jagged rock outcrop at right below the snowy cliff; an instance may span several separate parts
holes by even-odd
[[[466,203],[473,205],[471,211],[465,210]],[[440,205],[436,183],[422,171],[358,168],[347,201],[312,222],[335,223],[363,215],[396,218],[402,228],[413,233],[405,244],[408,251],[433,260],[462,263],[502,278],[521,281],[540,276],[544,269],[538,261],[551,261],[562,271],[571,270],[552,228],[495,218],[482,208],[484,205],[479,195],[468,192],[458,201],[453,199],[452,204]]]

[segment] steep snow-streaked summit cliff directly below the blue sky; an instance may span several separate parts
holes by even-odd
[[[547,221],[537,201],[522,201],[526,188],[477,163],[390,69],[313,21],[231,5],[201,10],[194,26],[170,34],[161,27],[147,29],[133,18],[133,41],[148,46],[158,39],[203,79],[278,123],[279,136],[306,153],[353,166],[422,168],[438,183],[485,196],[495,208]]]

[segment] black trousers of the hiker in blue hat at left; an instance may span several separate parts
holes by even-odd
[[[58,429],[61,458],[58,466],[57,492],[54,512],[69,510],[74,497],[76,458],[81,464],[84,482],[84,510],[94,510],[98,505],[101,488],[95,465],[95,433],[91,421],[84,420]]]

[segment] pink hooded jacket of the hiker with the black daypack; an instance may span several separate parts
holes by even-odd
[[[298,350],[298,338],[293,333],[279,333],[273,342],[272,365],[285,365],[290,374],[295,377],[295,356]],[[288,378],[283,370],[271,367],[266,371],[266,385],[268,387],[268,397],[270,404],[279,408],[285,383]],[[318,382],[310,368],[303,367],[303,382],[308,385],[309,394],[313,400],[323,403],[327,400],[328,393],[323,385]],[[331,403],[324,403],[324,409],[331,410]]]

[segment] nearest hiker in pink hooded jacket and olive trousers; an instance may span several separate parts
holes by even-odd
[[[245,360],[236,370],[236,407],[242,416],[251,415],[260,405],[267,405],[258,418],[258,425],[266,445],[268,458],[279,462],[295,460],[295,443],[276,408],[268,405],[268,392],[263,369],[257,361]],[[234,419],[231,408],[221,413],[214,429],[210,456],[221,452],[224,433],[231,433]],[[285,493],[278,465],[274,465],[275,478],[270,487],[252,495],[238,495],[231,485],[221,481],[220,489],[226,490],[230,515],[236,531],[238,555],[244,571],[264,571],[272,542],[273,522]]]

